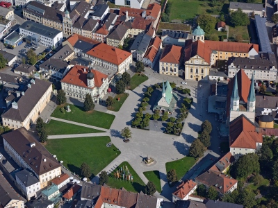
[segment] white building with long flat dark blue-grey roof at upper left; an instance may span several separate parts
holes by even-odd
[[[63,41],[63,32],[54,28],[49,28],[33,21],[25,21],[20,27],[22,35],[31,36],[38,44],[47,47],[58,47]]]

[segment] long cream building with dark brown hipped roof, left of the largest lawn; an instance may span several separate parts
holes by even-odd
[[[26,128],[19,128],[3,136],[3,145],[10,157],[22,168],[28,168],[40,180],[40,189],[61,174],[61,165]]]

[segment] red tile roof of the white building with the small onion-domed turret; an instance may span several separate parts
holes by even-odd
[[[85,71],[84,71],[85,69]],[[103,84],[102,79],[108,78],[108,75],[101,73],[97,70],[92,69],[92,73],[95,75],[95,87],[101,87]],[[70,69],[67,75],[61,81],[62,83],[68,83],[70,85],[76,85],[80,87],[86,87],[87,85],[87,74],[88,74],[88,67],[83,67],[80,65],[76,65]]]

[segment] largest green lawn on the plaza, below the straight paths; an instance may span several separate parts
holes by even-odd
[[[94,177],[121,153],[114,145],[106,147],[109,142],[110,137],[49,139],[45,147],[51,154],[57,155],[59,161],[63,160],[65,167],[78,175],[81,174],[81,164],[87,163]]]

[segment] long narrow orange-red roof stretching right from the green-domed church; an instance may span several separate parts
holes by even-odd
[[[205,47],[213,51],[225,51],[235,53],[249,53],[251,49],[255,49],[259,53],[258,44],[248,44],[241,42],[220,42],[213,40],[205,40]]]

